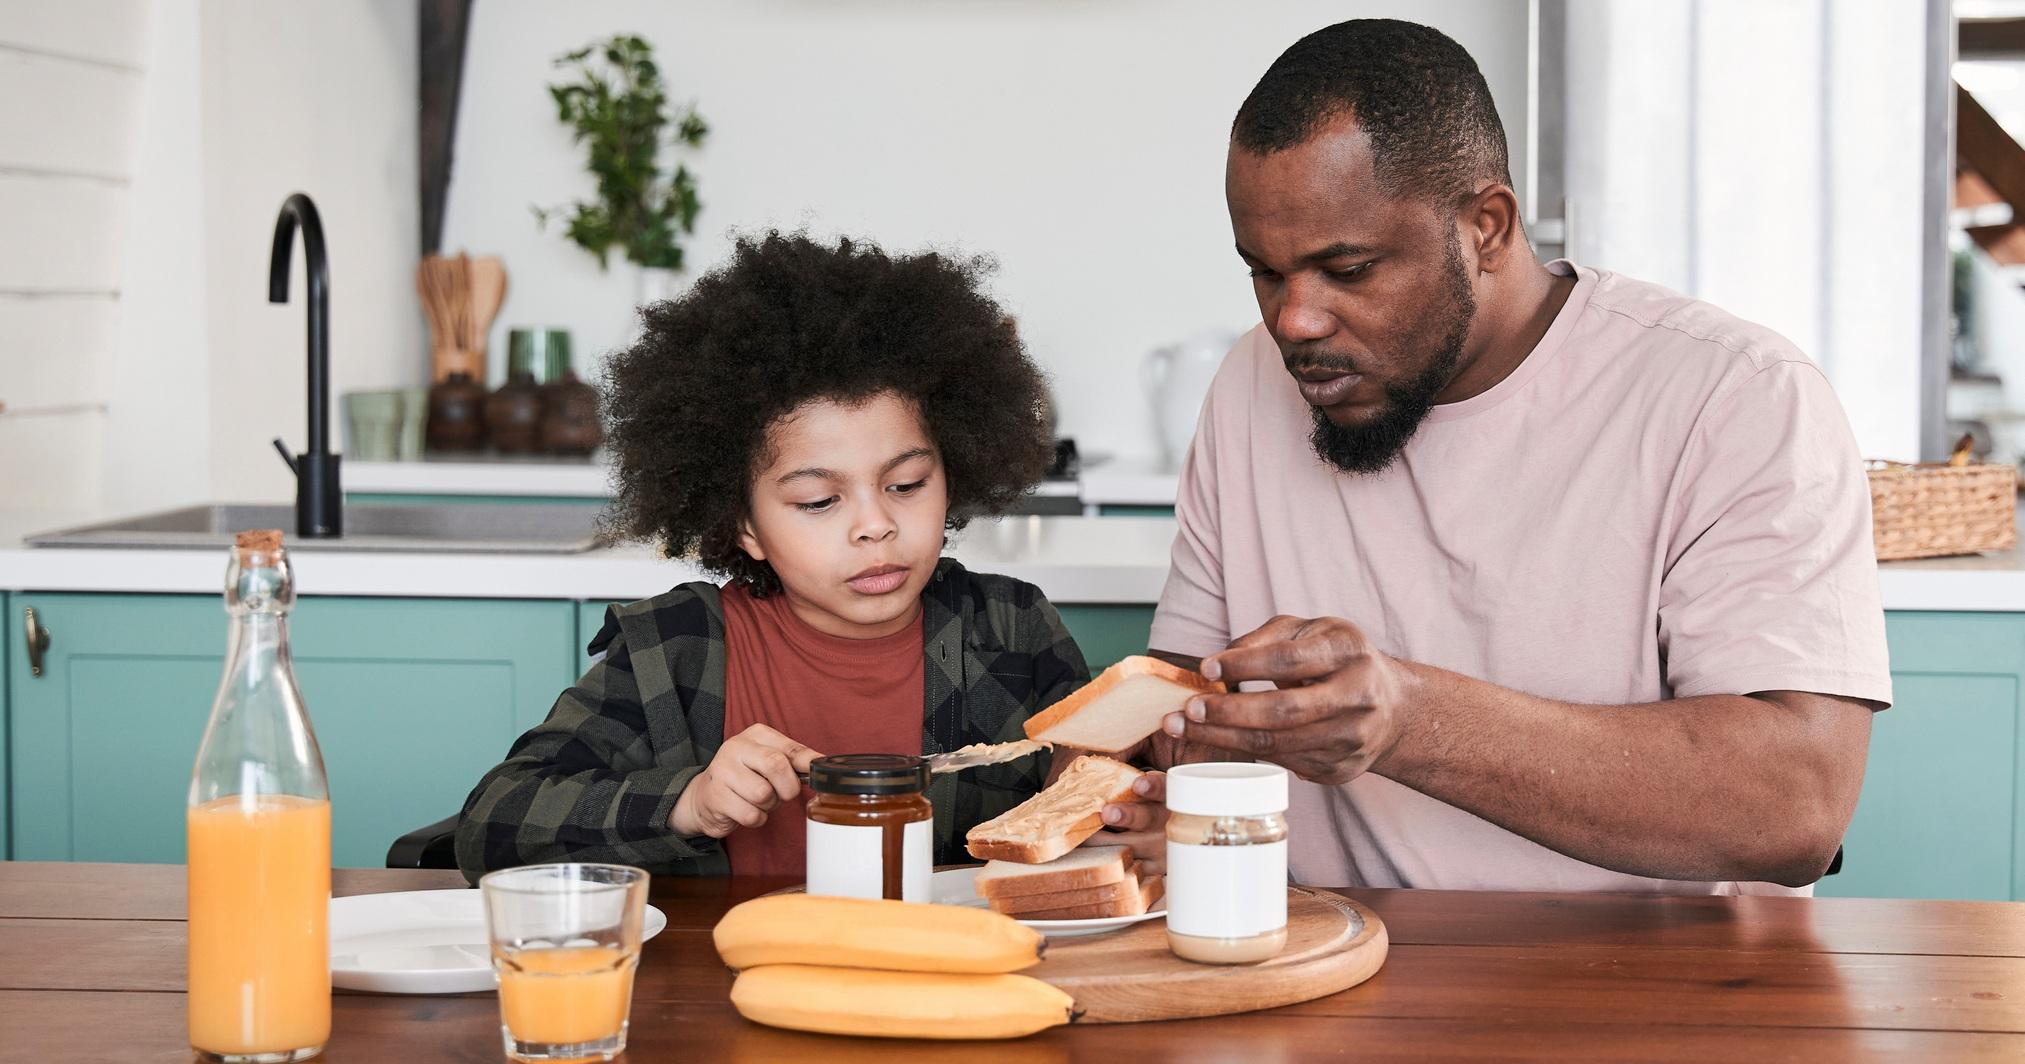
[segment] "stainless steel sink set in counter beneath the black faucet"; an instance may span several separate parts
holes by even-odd
[[[597,507],[452,503],[344,507],[342,539],[298,539],[296,507],[215,503],[26,537],[30,547],[225,547],[233,533],[281,529],[292,551],[577,553],[605,541]]]

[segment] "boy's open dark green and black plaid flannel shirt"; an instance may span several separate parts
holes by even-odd
[[[1089,681],[1039,588],[942,559],[921,592],[921,752],[1027,738],[1021,726]],[[682,837],[668,813],[725,742],[725,612],[715,584],[612,606],[549,719],[486,772],[458,821],[458,867],[478,876],[539,861],[614,861],[723,876],[717,839]],[[936,863],[968,861],[964,833],[1041,790],[1047,754],[938,774]]]

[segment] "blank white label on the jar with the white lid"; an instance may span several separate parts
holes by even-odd
[[[1251,938],[1286,926],[1286,841],[1166,843],[1166,930]]]

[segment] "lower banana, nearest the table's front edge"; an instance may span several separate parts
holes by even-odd
[[[731,1005],[770,1028],[871,1038],[1021,1038],[1077,1015],[1067,993],[1025,975],[816,965],[745,969]]]

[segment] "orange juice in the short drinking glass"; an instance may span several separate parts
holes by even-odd
[[[614,946],[494,953],[500,1015],[520,1042],[573,1046],[620,1034],[638,955]]]

